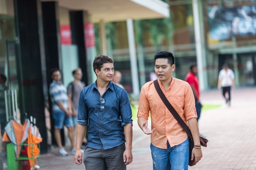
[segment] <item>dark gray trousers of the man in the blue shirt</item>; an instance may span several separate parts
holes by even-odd
[[[86,147],[84,165],[86,170],[126,170],[124,165],[125,144],[104,150]]]

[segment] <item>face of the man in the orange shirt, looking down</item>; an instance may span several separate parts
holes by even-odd
[[[156,59],[155,73],[160,81],[170,80],[174,69],[175,69],[175,64],[171,66],[168,63],[168,59],[164,59],[164,58]]]

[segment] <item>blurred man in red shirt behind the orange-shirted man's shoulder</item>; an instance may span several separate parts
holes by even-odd
[[[200,103],[199,97],[200,97],[200,90],[199,90],[199,81],[196,77],[197,74],[197,66],[196,64],[192,64],[190,66],[190,72],[186,75],[185,81],[188,82],[188,84],[191,86],[193,94],[195,96],[195,103],[196,103],[196,113],[197,113],[197,121],[200,117],[202,104]]]

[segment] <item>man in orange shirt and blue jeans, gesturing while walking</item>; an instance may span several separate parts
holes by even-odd
[[[200,145],[196,121],[195,98],[186,81],[172,77],[175,69],[174,56],[161,51],[155,55],[155,72],[164,95],[189,126],[194,145]],[[151,130],[148,128],[149,111]],[[151,155],[154,170],[188,169],[189,140],[187,133],[166,108],[156,92],[153,81],[147,82],[140,92],[138,124],[141,130],[151,135]],[[193,148],[191,159],[198,162],[202,150]]]

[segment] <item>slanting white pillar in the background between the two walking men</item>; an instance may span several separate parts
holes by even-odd
[[[131,73],[132,73],[132,91],[134,95],[140,95],[136,47],[135,47],[135,39],[134,39],[134,31],[133,31],[133,22],[131,18],[126,20],[126,25],[127,25]]]

